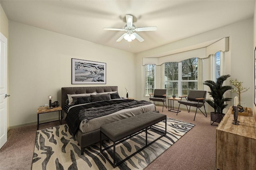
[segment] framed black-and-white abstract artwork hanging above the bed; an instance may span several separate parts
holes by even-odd
[[[106,84],[106,63],[72,58],[72,84]]]

